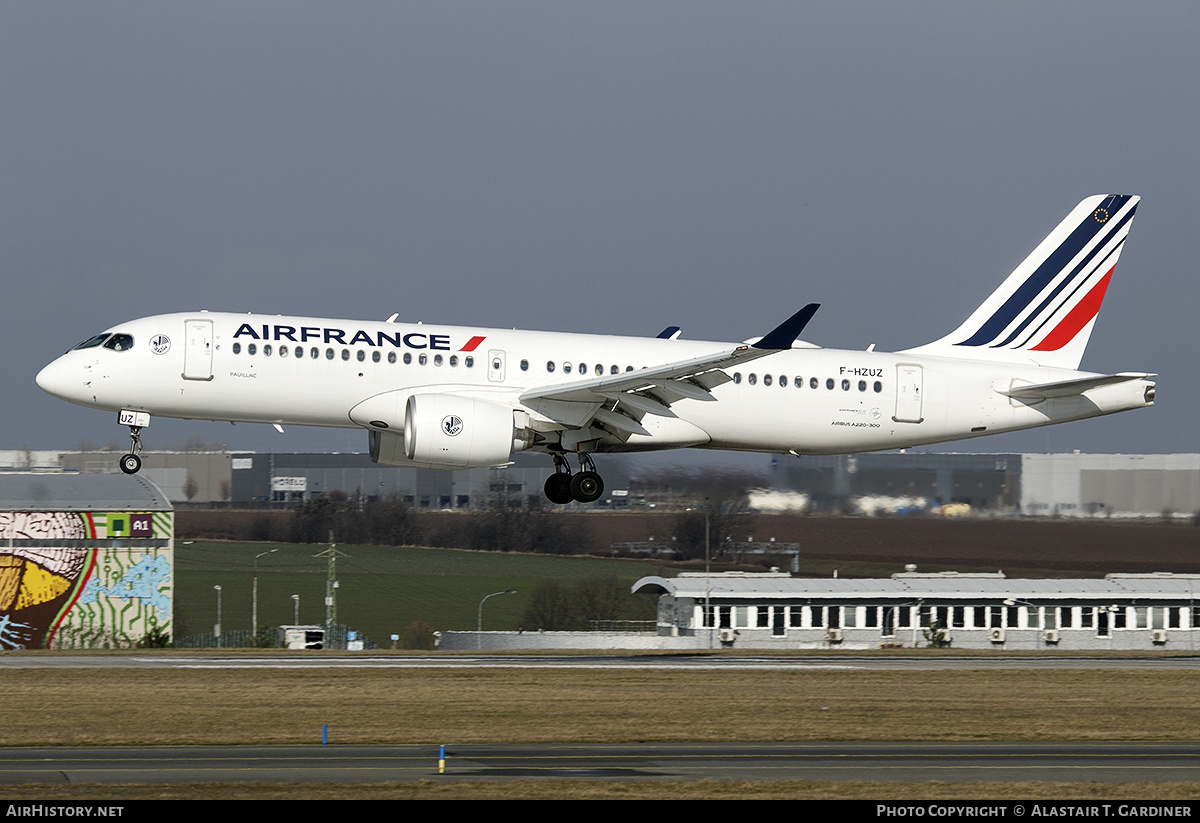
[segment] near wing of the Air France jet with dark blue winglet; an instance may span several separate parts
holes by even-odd
[[[539,386],[523,392],[521,402],[565,426],[582,428],[596,421],[625,434],[648,435],[641,425],[644,415],[674,417],[672,403],[716,400],[712,390],[732,379],[722,370],[791,348],[817,307],[809,304],[757,343],[636,372]]]

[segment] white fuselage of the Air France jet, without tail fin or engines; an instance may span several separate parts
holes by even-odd
[[[217,312],[142,318],[109,334],[128,336],[130,348],[73,349],[38,384],[98,409],[347,428],[362,427],[352,409],[385,392],[466,392],[520,408],[534,388],[736,346]],[[908,447],[1140,408],[1153,386],[1133,380],[1031,403],[1001,392],[1091,373],[805,344],[727,371],[732,380],[712,390],[716,402],[680,401],[674,417],[642,419],[649,437],[601,435],[594,450]],[[553,427],[534,413],[539,422]]]

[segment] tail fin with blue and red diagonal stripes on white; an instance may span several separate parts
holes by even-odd
[[[1087,198],[966,323],[910,352],[1079,368],[1139,199]]]

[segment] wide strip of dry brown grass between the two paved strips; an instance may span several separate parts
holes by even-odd
[[[28,745],[1196,740],[1200,672],[11,669]]]

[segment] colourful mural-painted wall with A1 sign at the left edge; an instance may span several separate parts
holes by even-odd
[[[0,511],[0,649],[170,631],[174,513]]]

